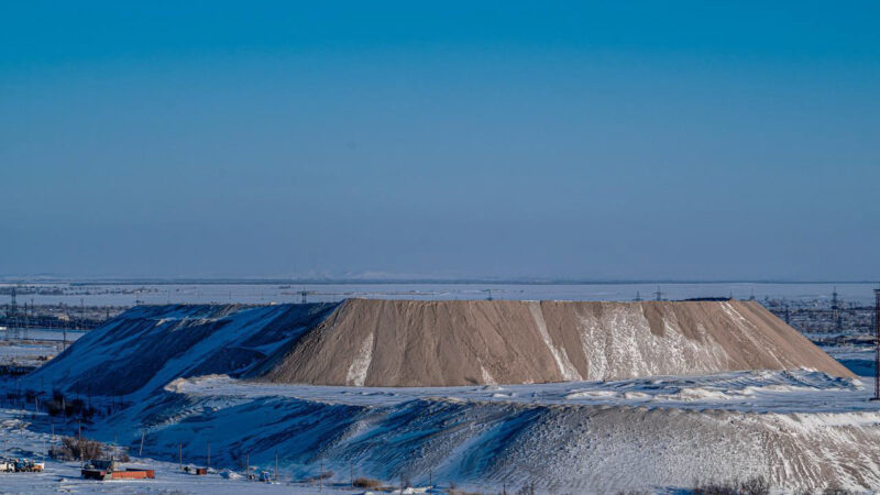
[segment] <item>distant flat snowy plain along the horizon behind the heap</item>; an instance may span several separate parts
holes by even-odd
[[[12,286],[15,284],[0,284]],[[690,284],[24,284],[42,288],[44,294],[25,294],[22,300],[37,305],[128,306],[168,302],[292,302],[299,292],[308,292],[311,302],[331,302],[344,298],[393,299],[484,299],[492,290],[496,299],[535,300],[631,300],[636,294],[652,299],[658,289],[663,298],[726,297],[746,299],[752,294],[771,299],[827,299],[837,288],[842,299],[867,304],[872,300],[872,284],[766,284],[766,283],[690,283]],[[58,290],[55,290],[58,289]],[[47,294],[53,293],[53,294]],[[0,300],[3,300],[0,297]]]

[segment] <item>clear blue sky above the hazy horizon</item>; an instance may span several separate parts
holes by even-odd
[[[878,2],[134,3],[0,3],[0,276],[880,278]]]

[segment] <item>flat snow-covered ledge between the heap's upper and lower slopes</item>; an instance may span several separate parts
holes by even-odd
[[[864,378],[868,381],[870,378]],[[741,413],[853,413],[880,410],[869,402],[872,381],[832,377],[810,370],[657,376],[615,382],[474,387],[333,387],[241,382],[227,376],[177,380],[166,389],[198,397],[288,397],[327,404],[381,406],[415,399],[541,405],[631,406]]]

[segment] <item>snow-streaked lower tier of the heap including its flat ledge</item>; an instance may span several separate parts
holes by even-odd
[[[84,435],[138,452],[143,432],[144,455],[164,461],[143,460],[160,472],[161,481],[140,482],[150,490],[263,490],[177,473],[178,452],[204,465],[210,444],[211,465],[241,472],[250,458],[272,471],[277,453],[285,483],[331,471],[328,482],[340,491],[351,473],[388,484],[402,474],[422,486],[454,482],[481,493],[531,483],[538,493],[674,492],[697,479],[750,475],[778,490],[865,491],[880,486],[880,406],[867,400],[871,388],[806,370],[443,388],[204,376],[174,381]],[[22,444],[18,425],[7,428],[9,443]],[[76,425],[56,428],[69,435]],[[24,431],[23,444],[38,450],[50,426],[35,421]],[[54,469],[56,477],[76,473]]]

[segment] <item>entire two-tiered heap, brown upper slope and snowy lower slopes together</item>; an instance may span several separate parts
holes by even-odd
[[[194,463],[210,444],[229,469],[277,452],[297,479],[880,488],[870,387],[750,302],[145,306],[19,384],[124,394],[89,437],[143,432],[151,457]]]

